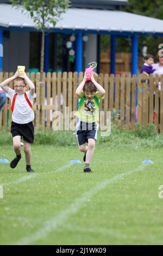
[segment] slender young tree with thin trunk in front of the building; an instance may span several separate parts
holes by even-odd
[[[41,40],[41,64],[40,71],[43,72],[44,64],[44,46],[45,46],[45,29],[50,25],[55,27],[62,13],[65,13],[70,7],[69,0],[10,0],[13,6],[21,9],[23,13],[29,12],[37,29],[42,31]]]

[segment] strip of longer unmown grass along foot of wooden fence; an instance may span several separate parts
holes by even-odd
[[[34,144],[77,147],[77,139],[71,131],[36,131]],[[109,148],[163,148],[163,134],[156,133],[154,124],[149,124],[147,128],[137,125],[133,131],[112,124],[110,136],[102,137],[101,131],[98,131],[96,144],[105,144]],[[0,145],[12,145],[12,136],[9,131],[4,129],[0,131]]]

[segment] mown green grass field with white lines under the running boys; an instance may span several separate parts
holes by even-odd
[[[11,161],[12,145],[0,149]],[[35,173],[24,154],[15,169],[0,164],[1,245],[163,244],[163,148],[97,144],[92,173],[75,146],[33,145],[32,153]]]

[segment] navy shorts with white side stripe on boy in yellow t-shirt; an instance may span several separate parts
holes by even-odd
[[[78,146],[88,142],[90,138],[97,140],[97,123],[85,123],[80,121],[76,127],[76,136]]]

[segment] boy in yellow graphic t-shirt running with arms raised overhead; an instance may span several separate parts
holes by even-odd
[[[84,172],[92,172],[90,163],[97,140],[97,121],[99,120],[99,100],[104,99],[104,88],[95,81],[93,72],[91,82],[86,81],[84,75],[82,83],[79,84],[76,95],[79,97],[79,108],[74,114],[79,118],[76,127],[79,150],[84,152]]]

